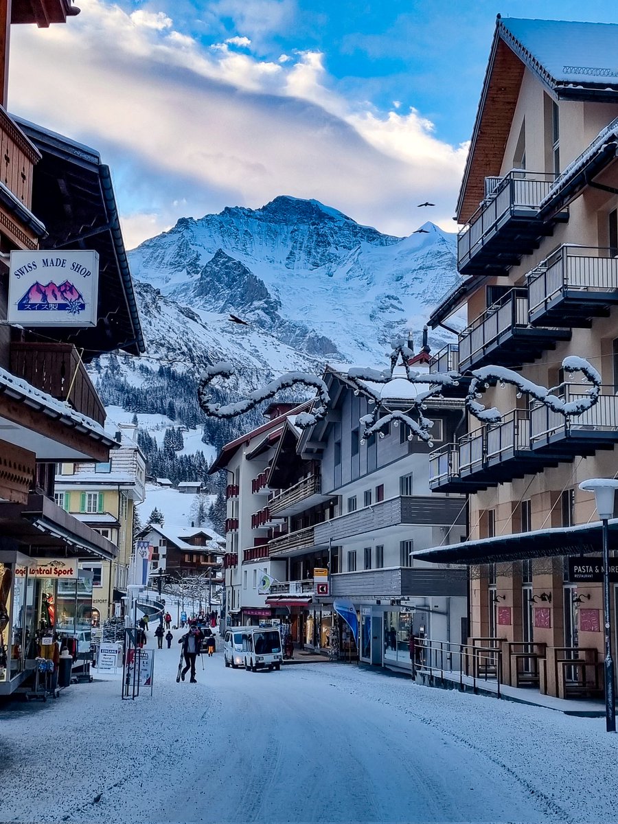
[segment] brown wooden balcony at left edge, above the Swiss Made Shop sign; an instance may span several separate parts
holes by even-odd
[[[43,224],[32,214],[32,179],[40,152],[0,106],[0,223],[20,249],[36,249]]]

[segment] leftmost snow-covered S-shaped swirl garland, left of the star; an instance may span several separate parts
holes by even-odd
[[[312,426],[318,420],[324,418],[328,410],[330,400],[328,387],[321,377],[311,375],[310,372],[286,372],[284,375],[276,377],[274,381],[267,383],[266,386],[262,386],[261,389],[255,389],[250,392],[246,400],[239,400],[235,404],[222,406],[221,404],[210,403],[208,386],[213,382],[213,378],[232,377],[233,374],[235,374],[235,369],[232,363],[223,362],[214,363],[213,366],[207,367],[200,376],[198,386],[199,405],[209,418],[236,418],[240,414],[255,409],[255,407],[264,400],[273,398],[282,389],[291,389],[297,385],[307,386],[309,389],[317,390],[317,397],[311,412],[303,412],[297,415],[297,427],[304,429]]]

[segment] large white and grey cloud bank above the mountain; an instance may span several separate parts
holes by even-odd
[[[255,42],[260,4],[216,5],[248,21],[247,36],[230,41]],[[295,10],[266,6],[279,23]],[[67,26],[16,27],[10,87],[11,110],[90,143],[112,169],[133,169],[130,184],[116,182],[128,247],[181,216],[278,194],[320,199],[394,234],[418,227],[410,207],[428,198],[432,219],[454,228],[465,150],[439,141],[419,112],[346,100],[319,53],[260,60],[205,48],[164,15],[136,15],[90,0]]]

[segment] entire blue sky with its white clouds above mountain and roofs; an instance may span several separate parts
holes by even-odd
[[[101,152],[129,247],[277,194],[453,231],[496,13],[618,22],[615,2],[78,5],[67,26],[14,27],[9,108]]]

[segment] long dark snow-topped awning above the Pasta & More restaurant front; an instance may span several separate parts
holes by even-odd
[[[618,549],[618,518],[608,522],[610,549]],[[482,538],[460,544],[436,546],[413,552],[414,558],[433,564],[499,564],[530,558],[554,558],[559,555],[586,555],[602,551],[601,522],[576,527],[538,529],[515,535]]]

